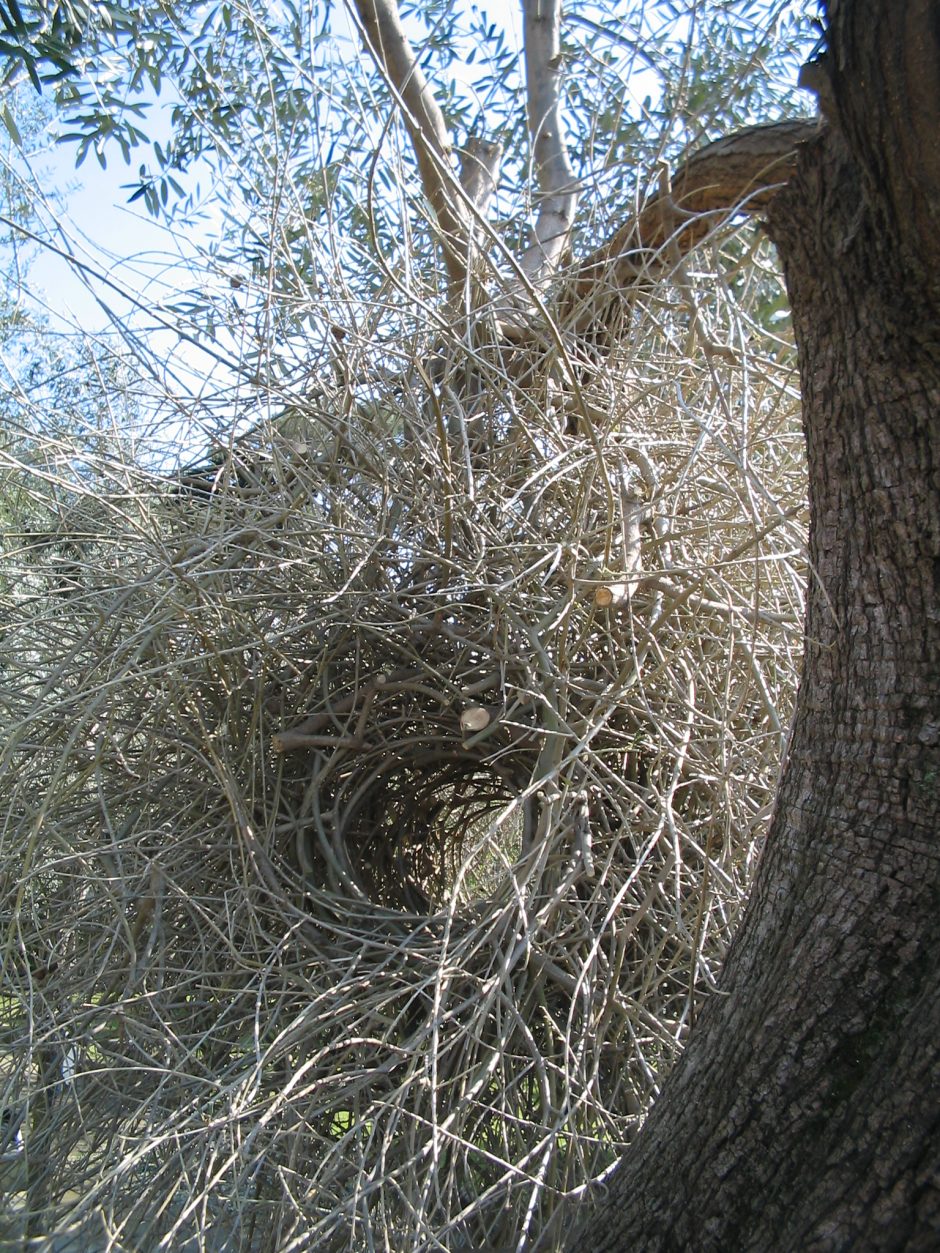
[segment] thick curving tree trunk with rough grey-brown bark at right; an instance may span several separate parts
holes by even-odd
[[[940,1248],[940,20],[828,8],[828,120],[771,213],[812,516],[788,762],[592,1253]]]

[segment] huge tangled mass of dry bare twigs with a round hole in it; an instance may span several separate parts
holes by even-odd
[[[551,1247],[714,985],[786,734],[803,469],[746,244],[577,400],[350,328],[355,377],[174,484],[56,471],[0,645],[11,1230]]]

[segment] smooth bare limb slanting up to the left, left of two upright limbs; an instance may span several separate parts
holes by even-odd
[[[402,105],[421,185],[441,231],[444,261],[455,283],[466,278],[467,214],[455,194],[451,142],[437,101],[417,64],[395,0],[356,0],[363,40]]]

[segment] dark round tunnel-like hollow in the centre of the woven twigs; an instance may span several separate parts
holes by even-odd
[[[498,722],[485,743],[469,746],[459,702],[407,690],[367,699],[361,741],[331,748],[328,737],[311,737],[316,749],[286,763],[308,882],[412,913],[435,912],[451,892],[465,905],[489,896],[533,826],[535,801],[511,808],[531,781],[538,729]]]

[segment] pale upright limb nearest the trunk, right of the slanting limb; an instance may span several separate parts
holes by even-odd
[[[578,192],[561,138],[561,0],[523,0],[523,15],[526,109],[539,213],[535,239],[521,267],[538,283],[558,269],[568,249]]]

